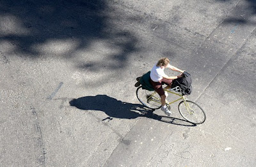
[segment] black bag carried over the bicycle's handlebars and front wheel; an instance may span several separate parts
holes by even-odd
[[[188,95],[192,92],[192,79],[191,75],[186,71],[182,74],[181,78],[177,78],[172,82],[172,88],[179,86],[182,92],[182,95]]]

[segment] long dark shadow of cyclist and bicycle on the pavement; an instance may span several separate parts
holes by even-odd
[[[104,112],[109,116],[106,118],[109,120],[112,120],[113,118],[136,119],[138,117],[147,117],[149,119],[159,120],[161,122],[180,126],[196,126],[186,120],[157,115],[154,113],[154,110],[145,108],[143,105],[126,103],[106,95],[84,96],[81,98],[72,99],[69,101],[69,104],[70,106],[75,106],[81,110],[95,110]]]

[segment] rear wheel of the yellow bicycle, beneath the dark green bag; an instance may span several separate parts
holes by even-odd
[[[161,98],[159,94],[155,91],[148,91],[138,87],[136,91],[136,96],[142,105],[147,106],[147,108],[158,109],[161,108]]]

